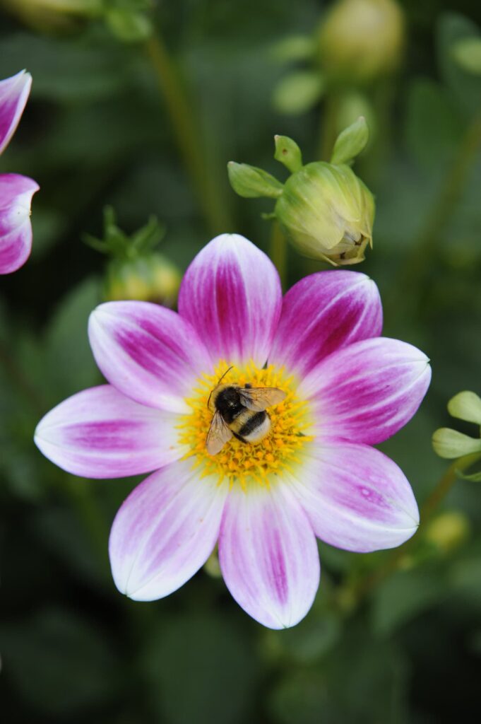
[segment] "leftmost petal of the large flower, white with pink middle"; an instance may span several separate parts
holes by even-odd
[[[38,423],[43,455],[74,475],[119,478],[172,463],[187,450],[177,442],[179,416],[139,405],[106,384],[57,405]]]

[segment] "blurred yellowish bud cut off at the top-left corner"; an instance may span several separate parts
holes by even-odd
[[[101,17],[103,0],[0,0],[0,5],[34,30],[73,30],[79,21]]]

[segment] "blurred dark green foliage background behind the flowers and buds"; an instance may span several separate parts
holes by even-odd
[[[477,720],[479,484],[456,481],[395,559],[320,544],[314,607],[274,632],[205,571],[160,602],[122,598],[107,538],[135,481],[75,479],[32,437],[49,408],[101,382],[86,322],[106,293],[106,259],[82,238],[106,238],[106,204],[124,237],[155,235],[155,221],[145,224],[160,219],[161,254],[180,271],[217,232],[236,230],[267,251],[260,214],[270,205],[234,195],[227,161],[278,172],[275,133],[295,138],[305,161],[318,159],[362,112],[372,140],[356,170],[377,202],[362,271],[380,287],[386,335],[419,345],[433,364],[420,412],[382,447],[425,501],[446,471],[430,437],[450,424],[447,400],[480,392],[479,4],[406,0],[404,51],[392,69],[384,64],[390,74],[368,80],[355,80],[355,67],[341,80],[326,70],[318,26],[330,4],[320,0],[0,6],[0,77],[23,67],[33,75],[1,170],[41,185],[32,258],[0,283],[4,720]],[[359,28],[351,32],[358,40]],[[288,255],[288,286],[322,268]]]

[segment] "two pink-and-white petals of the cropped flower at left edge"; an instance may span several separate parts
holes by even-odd
[[[32,85],[30,73],[0,80],[0,153],[7,148]],[[0,174],[0,274],[17,271],[32,248],[30,206],[38,184],[19,174]]]

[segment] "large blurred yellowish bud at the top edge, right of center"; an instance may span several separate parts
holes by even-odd
[[[338,0],[319,34],[320,60],[334,83],[370,83],[401,62],[404,14],[395,0]]]

